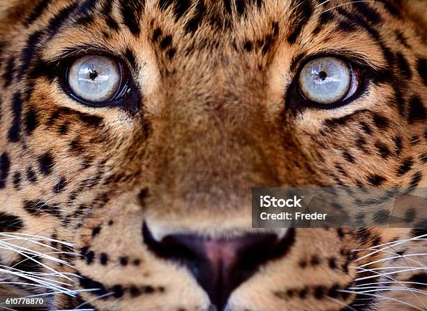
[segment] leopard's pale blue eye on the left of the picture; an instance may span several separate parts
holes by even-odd
[[[123,68],[116,59],[87,55],[76,59],[66,74],[73,96],[94,104],[105,104],[123,93]]]

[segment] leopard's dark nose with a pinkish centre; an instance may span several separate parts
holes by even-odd
[[[144,241],[158,256],[188,267],[217,310],[223,310],[234,289],[267,261],[285,256],[294,242],[294,230],[283,238],[274,233],[248,233],[211,239],[190,234],[165,236],[157,242],[147,226]]]

